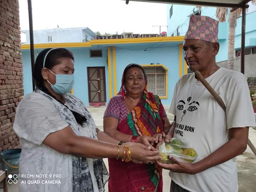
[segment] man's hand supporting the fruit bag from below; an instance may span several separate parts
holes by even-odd
[[[159,161],[156,162],[160,167],[164,169],[168,169],[172,172],[177,173],[185,173],[185,174],[197,174],[196,164],[183,163],[177,161],[173,156],[169,155],[169,158],[174,161],[174,163],[161,163]]]

